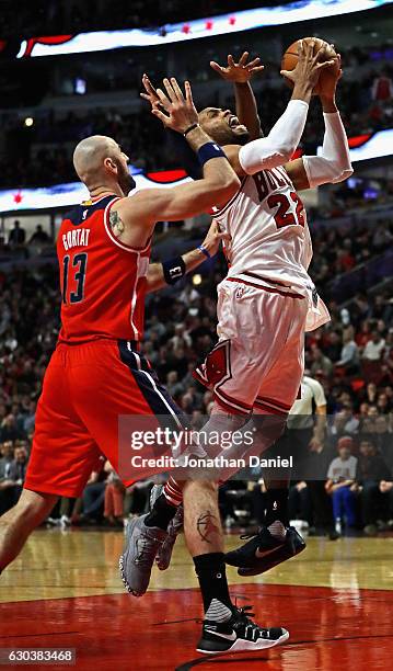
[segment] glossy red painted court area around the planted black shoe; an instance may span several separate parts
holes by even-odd
[[[266,652],[205,659],[195,651],[201,616],[198,590],[3,603],[1,647],[73,647],[82,671],[369,671],[391,668],[393,596],[386,590],[235,585],[238,605],[290,632]]]

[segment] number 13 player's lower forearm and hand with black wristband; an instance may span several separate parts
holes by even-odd
[[[176,284],[184,275],[193,272],[206,259],[215,257],[221,240],[230,240],[230,235],[220,232],[217,221],[212,221],[203,243],[185,254],[167,259],[163,263],[150,263],[148,270],[148,293],[157,292],[166,285]]]

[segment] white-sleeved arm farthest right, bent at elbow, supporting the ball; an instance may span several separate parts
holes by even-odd
[[[286,166],[296,189],[312,189],[321,184],[347,180],[354,172],[348,140],[336,106],[336,88],[343,76],[340,56],[336,67],[325,70],[320,79],[320,99],[325,122],[325,136],[320,156],[304,156]]]

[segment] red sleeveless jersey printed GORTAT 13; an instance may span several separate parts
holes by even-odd
[[[113,235],[109,211],[118,200],[82,203],[61,223],[61,342],[142,338],[151,243],[131,248]]]

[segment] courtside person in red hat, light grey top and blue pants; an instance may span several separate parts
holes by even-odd
[[[338,456],[327,469],[326,491],[332,496],[336,531],[340,533],[343,520],[347,527],[356,525],[355,478],[358,459],[351,454],[354,440],[343,436],[337,444]]]

